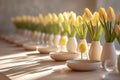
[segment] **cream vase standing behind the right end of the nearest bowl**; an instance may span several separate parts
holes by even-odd
[[[89,59],[101,61],[102,46],[100,41],[92,41],[89,50]]]

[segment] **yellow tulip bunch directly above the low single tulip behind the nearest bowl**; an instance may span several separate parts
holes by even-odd
[[[87,36],[87,25],[85,22],[89,21],[90,18],[92,17],[90,11],[86,8],[83,16],[77,16],[76,21],[74,22],[74,28],[79,36],[80,39],[85,39]]]

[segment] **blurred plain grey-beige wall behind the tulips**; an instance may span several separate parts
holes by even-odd
[[[112,6],[117,14],[120,11],[119,4],[120,0],[0,0],[0,34],[15,32],[15,27],[10,21],[12,17],[37,16],[39,13],[46,15],[49,12],[62,13],[64,11],[74,11],[77,15],[82,15],[86,7],[93,13],[100,7],[107,10],[109,6]],[[87,39],[90,41],[89,36]],[[103,37],[101,43],[104,43]],[[115,46],[120,49],[117,41],[115,41]]]

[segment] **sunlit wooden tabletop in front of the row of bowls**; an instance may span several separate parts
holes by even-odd
[[[102,68],[72,71],[66,61],[54,61],[49,54],[26,51],[0,39],[0,73],[10,80],[102,80],[108,72]]]

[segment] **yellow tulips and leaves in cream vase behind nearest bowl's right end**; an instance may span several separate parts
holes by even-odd
[[[86,22],[92,41],[99,41],[102,35],[102,26],[99,22],[99,13],[94,12],[90,22]]]

